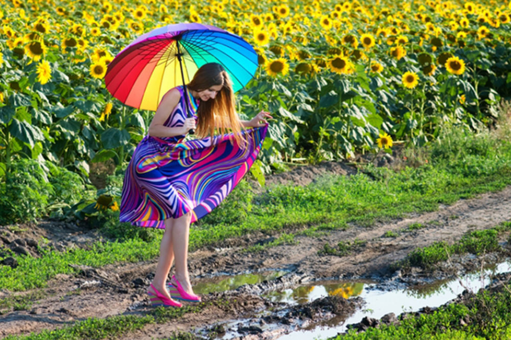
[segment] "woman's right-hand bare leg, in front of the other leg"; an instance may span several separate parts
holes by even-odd
[[[176,258],[176,278],[183,289],[189,294],[193,294],[190,276],[188,274],[188,237],[190,234],[191,220],[192,214],[188,212],[176,218],[172,226],[172,245]]]

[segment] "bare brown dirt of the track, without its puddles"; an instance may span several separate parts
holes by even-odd
[[[486,229],[509,221],[509,211],[511,187],[500,192],[485,193],[474,199],[460,200],[452,206],[440,207],[438,211],[409,216],[400,221],[370,228],[352,227],[330,231],[327,235],[318,237],[296,236],[296,245],[273,247],[259,253],[246,253],[243,249],[255,242],[264,241],[268,236],[249,235],[226,241],[226,245],[231,245],[230,247],[203,249],[191,253],[190,270],[195,278],[192,283],[199,282],[200,277],[220,273],[234,275],[269,269],[290,272],[286,280],[275,283],[281,288],[286,284],[318,278],[372,278],[383,281],[394,274],[389,270],[389,265],[403,259],[414,248],[439,240],[452,242],[467,231]],[[425,227],[401,232],[395,238],[384,237],[387,231],[400,231],[413,223],[421,223]],[[68,233],[73,234],[72,230],[68,230]],[[334,246],[341,240],[356,238],[365,241],[365,244],[350,255],[338,257],[318,254],[326,243]],[[108,265],[101,269],[82,268],[78,276],[57,276],[49,282],[48,288],[16,293],[15,295],[26,296],[42,291],[44,296],[38,298],[28,310],[11,310],[0,315],[0,336],[59,328],[68,322],[89,317],[147,314],[151,307],[148,306],[145,289],[155,266],[156,261],[150,261]],[[0,299],[7,296],[12,294],[0,292]],[[123,338],[168,337],[172,332],[189,331],[199,325],[253,317],[254,310],[278,308],[250,289],[204,296],[206,302],[219,299],[228,303],[225,306],[213,303],[200,312],[187,313],[183,318],[165,324],[148,325],[143,330]],[[267,336],[276,337],[284,330],[274,332]],[[263,337],[262,334],[258,336]]]

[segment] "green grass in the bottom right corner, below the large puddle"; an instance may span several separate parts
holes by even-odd
[[[331,339],[509,339],[510,303],[507,285],[496,292],[480,292],[464,304],[442,306],[430,314],[409,314],[398,326],[380,325],[360,333],[350,330]],[[462,325],[460,320],[468,324]]]

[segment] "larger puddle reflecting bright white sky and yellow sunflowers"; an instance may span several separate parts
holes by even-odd
[[[481,272],[478,272],[467,274],[460,280],[444,280],[421,287],[396,290],[381,290],[378,289],[376,284],[366,282],[316,282],[314,285],[272,292],[267,297],[272,301],[290,304],[312,302],[318,298],[332,295],[346,298],[359,296],[364,299],[366,304],[363,309],[355,311],[344,321],[330,320],[323,326],[318,326],[312,330],[292,331],[279,337],[279,339],[309,340],[336,336],[338,333],[346,331],[346,325],[358,323],[366,316],[380,319],[390,312],[398,316],[404,311],[417,311],[426,306],[438,307],[456,298],[466,288],[477,292],[479,288],[491,283],[489,279],[491,274],[510,271],[511,262],[503,262],[493,268],[485,269],[482,275]]]

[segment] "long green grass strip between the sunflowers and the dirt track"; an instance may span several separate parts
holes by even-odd
[[[225,202],[192,226],[190,249],[222,245],[226,238],[252,232],[282,235],[273,244],[280,245],[294,241],[285,234],[313,235],[353,224],[371,227],[411,212],[436,210],[439,204],[501,190],[511,184],[508,139],[447,134],[421,153],[428,154],[430,161],[419,167],[392,171],[368,165],[350,177],[324,176],[308,186],[277,185],[259,195],[242,181]],[[70,263],[102,266],[157,256],[161,231],[139,232],[119,224],[117,215],[107,217],[110,222],[105,223],[104,231],[118,241],[98,241],[87,250],[47,250],[40,258],[15,255],[19,263],[15,270],[0,266],[0,288],[43,287],[58,273],[74,273]]]

